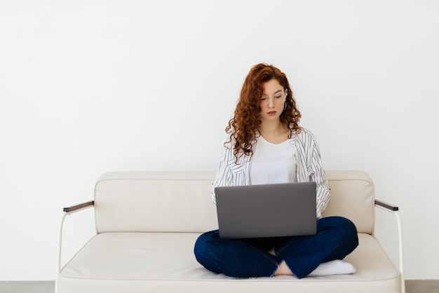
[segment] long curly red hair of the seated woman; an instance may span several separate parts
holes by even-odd
[[[234,118],[231,118],[226,132],[230,133],[229,140],[226,143],[233,142],[234,155],[236,162],[238,156],[252,156],[253,144],[257,138],[257,129],[262,123],[259,113],[261,112],[260,99],[264,93],[263,85],[271,79],[276,79],[285,92],[288,93],[285,101],[286,107],[281,114],[281,123],[292,132],[299,132],[300,111],[297,109],[296,101],[287,76],[269,64],[257,64],[248,73],[241,89],[241,95],[236,105]]]

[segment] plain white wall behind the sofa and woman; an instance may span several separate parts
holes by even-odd
[[[365,170],[399,205],[406,277],[439,278],[438,14],[433,0],[0,0],[0,280],[55,278],[62,207],[91,200],[102,172],[215,170],[259,62],[288,74],[325,168]],[[71,223],[79,245],[90,229]]]

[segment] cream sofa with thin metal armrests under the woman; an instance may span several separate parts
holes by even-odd
[[[404,292],[402,246],[397,268],[374,237],[374,209],[398,207],[374,199],[361,171],[329,171],[332,198],[324,217],[341,215],[358,229],[360,245],[346,257],[353,275],[297,280],[229,278],[205,270],[194,257],[198,235],[217,229],[210,200],[214,172],[109,172],[89,203],[66,207],[60,231],[56,292]],[[65,217],[95,209],[96,235],[61,266]],[[400,236],[400,231],[399,234]],[[401,240],[401,236],[400,236]]]

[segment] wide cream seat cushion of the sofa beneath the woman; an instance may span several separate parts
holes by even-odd
[[[62,292],[147,292],[150,289],[151,292],[209,290],[210,293],[267,292],[276,287],[294,288],[295,292],[337,293],[398,292],[400,288],[398,271],[369,234],[358,234],[360,245],[345,259],[356,267],[356,273],[301,280],[291,276],[236,279],[211,273],[194,257],[198,235],[97,234],[62,268],[58,286]]]

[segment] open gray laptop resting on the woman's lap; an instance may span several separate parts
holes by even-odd
[[[216,187],[221,238],[316,234],[316,182]]]

